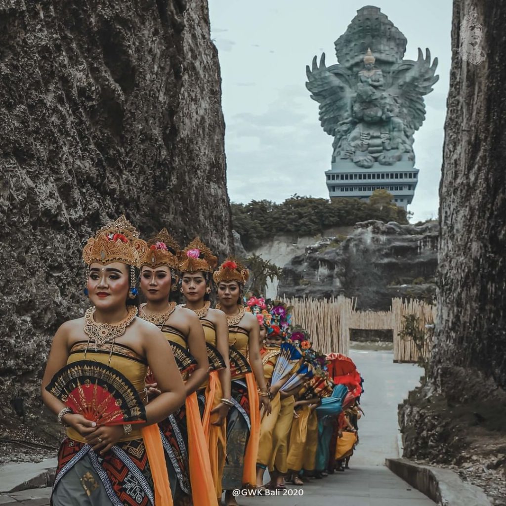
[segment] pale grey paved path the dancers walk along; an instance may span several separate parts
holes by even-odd
[[[430,506],[435,503],[391,473],[385,458],[398,457],[397,405],[418,383],[421,369],[394,364],[391,351],[352,351],[365,378],[359,421],[360,444],[350,470],[303,487],[290,486],[287,495],[239,497],[242,506]],[[300,494],[303,495],[288,495]],[[0,495],[0,505],[47,506],[50,489]],[[196,505],[198,506],[198,505]]]

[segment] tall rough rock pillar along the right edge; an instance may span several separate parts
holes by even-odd
[[[469,16],[475,18],[471,23]],[[473,33],[483,34],[486,59],[472,64],[453,53],[440,185],[436,344],[426,386],[401,410],[409,456],[460,462],[467,457],[484,466],[491,455],[490,469],[503,470],[506,139],[498,132],[506,117],[505,22],[502,3],[453,3],[452,48],[472,35],[466,32],[471,24]],[[429,395],[437,402],[426,402]],[[431,431],[435,423],[442,434]]]

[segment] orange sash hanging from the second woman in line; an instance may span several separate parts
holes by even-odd
[[[218,506],[207,442],[200,421],[197,395],[195,392],[186,398],[186,426],[188,429],[188,459],[193,504],[198,506]],[[166,474],[166,472],[165,472]]]

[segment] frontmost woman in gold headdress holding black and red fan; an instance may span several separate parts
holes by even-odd
[[[160,434],[153,424],[181,406],[185,394],[163,334],[136,317],[135,269],[145,248],[135,228],[122,216],[100,229],[83,250],[85,293],[94,307],[56,332],[41,388],[44,403],[67,427],[58,454],[54,506],[172,504]],[[146,402],[148,366],[159,376],[160,395],[142,409],[145,422],[132,425],[143,417],[126,416],[128,406],[123,400],[129,405],[135,404],[135,399]],[[102,386],[93,379],[94,388],[85,392],[83,387],[91,382],[86,378],[97,370],[102,374]],[[73,378],[70,383],[69,375]],[[112,407],[95,401],[85,405],[75,393],[80,392],[83,398],[111,398],[117,391],[107,385],[118,381],[121,395],[126,397],[115,397]],[[68,385],[74,390],[63,394]],[[69,407],[71,401],[75,401],[75,411]],[[118,423],[118,416],[122,417],[119,425],[102,425],[103,420]],[[128,420],[132,424],[125,423]]]

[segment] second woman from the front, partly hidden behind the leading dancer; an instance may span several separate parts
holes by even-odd
[[[186,402],[174,415],[163,421],[160,428],[167,459],[176,470],[172,480],[174,500],[188,504],[190,488],[194,504],[217,504],[212,483],[209,454],[195,392],[208,378],[209,362],[205,336],[199,319],[193,311],[169,301],[171,291],[177,288],[176,269],[179,264],[179,246],[166,229],[148,240],[148,249],[141,261],[141,289],[147,303],[141,306],[140,316],[154,323],[171,344],[180,359],[185,380]],[[188,372],[189,361],[195,366]],[[154,374],[155,381],[159,378]]]

